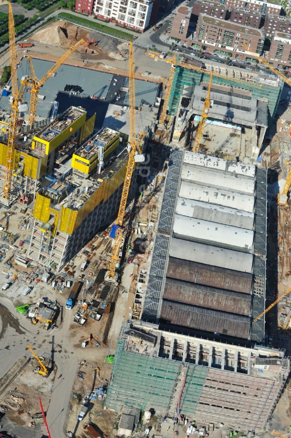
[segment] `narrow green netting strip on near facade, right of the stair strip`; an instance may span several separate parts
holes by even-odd
[[[182,413],[194,415],[207,374],[207,367],[189,364],[180,403]]]

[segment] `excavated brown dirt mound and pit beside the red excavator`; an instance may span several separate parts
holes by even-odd
[[[74,43],[83,38],[85,41],[93,40],[88,46],[80,47],[79,53],[90,53],[91,60],[126,60],[129,53],[127,42],[121,42],[116,38],[103,35],[98,32],[91,32],[87,29],[72,25],[67,21],[51,23],[45,28],[36,32],[31,38],[32,41],[41,42],[48,46],[62,47],[69,49]]]

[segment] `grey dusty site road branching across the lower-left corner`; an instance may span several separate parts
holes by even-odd
[[[4,306],[7,311],[3,309]],[[71,313],[64,312],[63,324],[60,329],[40,330],[33,326],[22,315],[18,315],[11,300],[0,296],[0,317],[2,321],[0,339],[0,378],[14,365],[22,356],[30,355],[25,350],[26,344],[36,350],[41,349],[41,353],[51,353],[52,336],[54,336],[54,361],[57,366],[57,374],[62,374],[62,378],[56,378],[49,409],[47,411],[47,422],[52,436],[63,438],[64,424],[67,416],[67,408],[70,401],[71,391],[74,384],[75,373],[77,370],[77,353],[68,339],[70,333],[69,326]],[[18,321],[19,318],[19,321]],[[6,420],[5,420],[6,421]],[[14,425],[5,423],[7,432],[15,433]],[[43,429],[45,432],[45,429]],[[22,435],[21,435],[22,436]],[[28,436],[31,436],[28,435]]]

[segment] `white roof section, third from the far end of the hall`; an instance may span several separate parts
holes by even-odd
[[[237,208],[244,212],[253,212],[255,203],[254,196],[249,194],[187,183],[186,181],[181,182],[179,196],[210,204],[223,205],[224,207]]]

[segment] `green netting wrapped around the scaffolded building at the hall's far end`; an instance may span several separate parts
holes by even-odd
[[[201,81],[208,82],[209,74],[201,73],[200,71],[187,70],[182,67],[176,67],[175,76],[172,84],[172,90],[169,99],[169,113],[175,115],[177,112],[179,99],[182,93],[183,85],[200,85]],[[234,85],[242,90],[252,91],[253,97],[256,98],[266,98],[268,99],[268,126],[270,127],[277,111],[279,104],[281,92],[284,86],[282,81],[280,87],[272,87],[270,85],[257,85],[254,82],[247,82],[242,84],[242,81],[237,83],[233,80],[228,81],[227,79],[217,78],[213,76],[212,83],[217,85]]]

